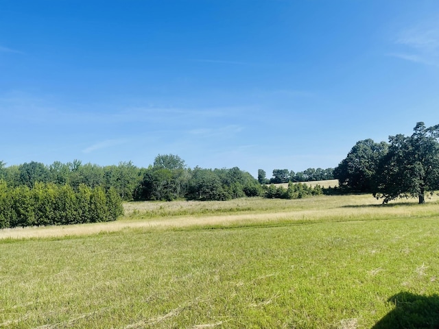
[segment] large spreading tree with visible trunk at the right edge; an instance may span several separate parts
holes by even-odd
[[[412,136],[390,136],[388,153],[381,158],[373,194],[387,203],[397,197],[418,197],[439,188],[439,125],[418,122]]]

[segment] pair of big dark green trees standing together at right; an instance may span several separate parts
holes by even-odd
[[[358,141],[334,169],[346,192],[372,193],[388,203],[399,197],[416,197],[439,189],[439,125],[418,122],[410,136],[389,136],[388,143]]]

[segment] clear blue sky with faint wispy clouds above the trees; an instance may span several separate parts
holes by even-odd
[[[439,123],[439,1],[3,0],[0,160],[302,171]]]

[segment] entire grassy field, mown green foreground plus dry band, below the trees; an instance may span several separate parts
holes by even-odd
[[[439,199],[141,202],[0,231],[0,328],[438,328]]]

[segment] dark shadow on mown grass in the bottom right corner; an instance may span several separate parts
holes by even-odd
[[[401,292],[389,298],[395,305],[372,329],[439,328],[439,295]]]

